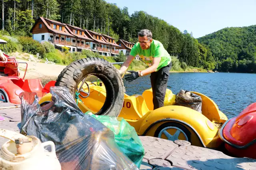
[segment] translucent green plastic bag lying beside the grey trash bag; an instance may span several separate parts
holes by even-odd
[[[115,141],[122,152],[140,168],[145,151],[134,127],[122,117],[100,116],[92,113],[90,115],[114,132]]]

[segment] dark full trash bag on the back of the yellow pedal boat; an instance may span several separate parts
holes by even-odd
[[[180,90],[176,94],[175,105],[185,106],[202,113],[202,98],[187,90]]]

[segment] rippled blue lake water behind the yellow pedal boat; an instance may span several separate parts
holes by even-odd
[[[150,77],[126,82],[126,94],[142,94],[151,88]],[[211,98],[228,118],[238,115],[256,102],[256,74],[243,73],[170,73],[168,86],[173,94],[181,89],[202,93]]]

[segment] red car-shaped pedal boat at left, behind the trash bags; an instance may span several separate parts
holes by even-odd
[[[3,64],[6,64],[5,66],[8,66],[7,68],[3,68],[3,70],[10,68],[10,70],[8,70],[8,75],[20,75],[20,72],[18,71],[18,63],[25,62],[16,62],[16,60],[8,60],[7,62],[1,61],[0,65],[2,64],[3,66]],[[42,96],[50,92],[51,86],[55,86],[56,81],[50,81],[43,87],[40,79],[24,80],[27,68],[28,64],[26,66],[23,78],[20,78],[19,76],[0,76],[0,102],[20,104],[21,100],[19,98],[19,94],[22,92],[36,92],[40,100]],[[12,71],[14,71],[14,74],[12,74]]]

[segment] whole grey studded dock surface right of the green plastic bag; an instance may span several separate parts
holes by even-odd
[[[140,137],[140,140],[145,149],[140,170],[152,167],[153,170],[256,170],[256,159],[234,158],[184,141],[173,143],[156,137]],[[151,167],[143,169],[144,164]]]

